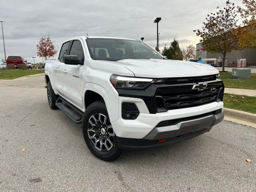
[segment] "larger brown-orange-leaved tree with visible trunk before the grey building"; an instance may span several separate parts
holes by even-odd
[[[237,10],[234,3],[226,1],[224,8],[217,7],[215,13],[208,14],[206,22],[203,22],[202,30],[194,30],[197,36],[201,37],[200,42],[204,50],[212,53],[222,53],[222,71],[225,71],[226,54],[238,49],[236,44],[237,36],[234,31],[237,29]]]

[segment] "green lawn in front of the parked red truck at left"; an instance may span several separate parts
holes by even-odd
[[[19,77],[44,73],[44,69],[28,69],[28,70],[0,70],[0,79],[16,79]]]

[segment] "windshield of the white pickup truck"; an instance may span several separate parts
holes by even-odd
[[[87,38],[94,60],[163,59],[156,50],[141,41],[110,38]]]

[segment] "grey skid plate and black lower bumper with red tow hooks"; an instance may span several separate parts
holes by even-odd
[[[202,118],[184,119],[171,126],[156,127],[143,139],[117,137],[118,146],[123,150],[136,150],[180,142],[211,130],[221,122],[224,114],[206,115]],[[176,129],[178,127],[178,129]]]

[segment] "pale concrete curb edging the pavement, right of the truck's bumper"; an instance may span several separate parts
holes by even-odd
[[[256,123],[256,114],[224,108],[224,115],[240,120]]]

